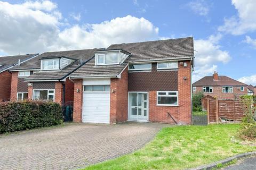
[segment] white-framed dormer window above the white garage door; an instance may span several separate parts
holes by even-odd
[[[97,54],[97,65],[119,64],[119,53]]]

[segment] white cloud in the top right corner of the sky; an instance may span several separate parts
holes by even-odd
[[[256,30],[256,1],[255,0],[232,0],[238,15],[226,18],[224,25],[218,28],[219,31],[242,35],[248,31]]]

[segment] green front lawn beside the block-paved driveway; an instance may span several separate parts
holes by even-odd
[[[164,128],[133,154],[85,169],[186,169],[255,151],[255,146],[231,142],[238,128],[238,124]]]

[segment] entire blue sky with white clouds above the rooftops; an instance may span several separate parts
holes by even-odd
[[[193,80],[256,85],[256,1],[0,1],[0,55],[193,36]],[[1,30],[0,30],[1,31]]]

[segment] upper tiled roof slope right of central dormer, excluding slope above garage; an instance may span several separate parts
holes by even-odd
[[[193,37],[114,44],[107,49],[123,49],[131,53],[131,62],[194,57]]]

